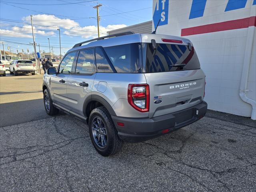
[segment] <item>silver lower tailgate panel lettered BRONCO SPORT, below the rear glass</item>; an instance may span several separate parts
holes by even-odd
[[[150,87],[149,117],[180,111],[202,102],[204,73],[202,70],[146,73]]]

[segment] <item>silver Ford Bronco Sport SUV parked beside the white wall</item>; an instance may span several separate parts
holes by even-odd
[[[85,44],[85,45],[83,45]],[[88,123],[102,156],[206,114],[205,75],[190,40],[131,32],[76,44],[44,75],[44,106]]]

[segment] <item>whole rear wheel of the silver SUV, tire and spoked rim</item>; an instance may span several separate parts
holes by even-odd
[[[102,156],[113,155],[122,148],[123,142],[104,107],[92,110],[89,117],[89,133],[94,148]]]

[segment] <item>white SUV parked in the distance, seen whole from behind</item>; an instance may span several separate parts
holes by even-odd
[[[36,67],[32,63],[31,60],[13,60],[10,63],[10,74],[14,74],[14,76],[18,74],[28,74],[31,73],[32,75],[36,74]]]

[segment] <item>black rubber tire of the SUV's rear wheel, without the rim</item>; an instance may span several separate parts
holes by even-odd
[[[93,135],[92,123],[93,123],[93,120],[95,120],[95,118],[98,118],[98,117],[102,120],[104,124],[104,128],[106,128],[107,140],[106,140],[106,145],[104,147],[98,146]],[[112,122],[112,118],[105,107],[98,107],[92,110],[89,117],[89,133],[90,133],[90,138],[92,140],[92,144],[94,148],[102,156],[113,155],[119,152],[123,146],[123,142],[118,137],[117,130]]]

